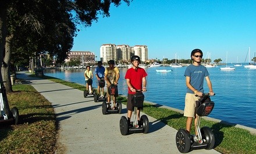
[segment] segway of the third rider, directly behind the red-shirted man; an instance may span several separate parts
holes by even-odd
[[[114,105],[113,97],[118,93],[118,86],[111,84],[108,89],[108,93],[110,95],[110,102],[106,102],[104,100],[102,102],[102,114],[106,113],[121,113],[122,112],[122,103],[120,101],[116,101],[116,104]]]

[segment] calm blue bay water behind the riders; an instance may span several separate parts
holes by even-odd
[[[237,123],[256,129],[256,69],[236,67],[235,71],[221,71],[220,67],[208,68],[215,96],[215,108],[209,115],[211,118]],[[169,73],[157,73],[155,69],[172,69]],[[145,100],[157,104],[184,109],[186,84],[183,68],[158,67],[145,68],[147,76],[147,92]],[[127,94],[124,79],[127,68],[120,68],[118,90],[120,94]],[[45,75],[84,85],[83,70],[51,70]],[[94,72],[94,69],[92,69]],[[93,87],[95,86],[95,77]],[[204,83],[205,92],[208,92],[207,83]]]

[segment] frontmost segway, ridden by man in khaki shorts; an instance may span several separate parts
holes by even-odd
[[[194,138],[195,135],[190,135],[186,129],[179,129],[176,134],[176,145],[181,153],[187,153],[194,149],[212,149],[215,144],[214,133],[209,127],[202,127],[200,129],[200,122],[202,116],[208,116],[214,109],[214,102],[209,98],[209,93],[203,94],[203,96],[196,101],[198,115],[197,119],[197,134],[198,138]]]

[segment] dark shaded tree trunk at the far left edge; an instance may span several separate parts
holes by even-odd
[[[6,22],[6,7],[8,1],[0,1],[0,69],[2,70],[3,52],[5,51],[5,38],[7,34]],[[8,104],[7,95],[5,93],[5,86],[3,86],[2,71],[0,71],[0,85],[3,98],[3,111],[10,116],[10,108]],[[0,100],[2,101],[2,100]]]

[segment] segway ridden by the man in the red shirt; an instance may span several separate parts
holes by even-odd
[[[122,135],[127,135],[128,133],[148,133],[149,120],[146,115],[140,117],[140,123],[138,123],[137,108],[143,108],[144,94],[141,91],[136,91],[133,96],[132,103],[134,106],[134,122],[128,123],[126,116],[122,116],[120,119],[120,132]]]

